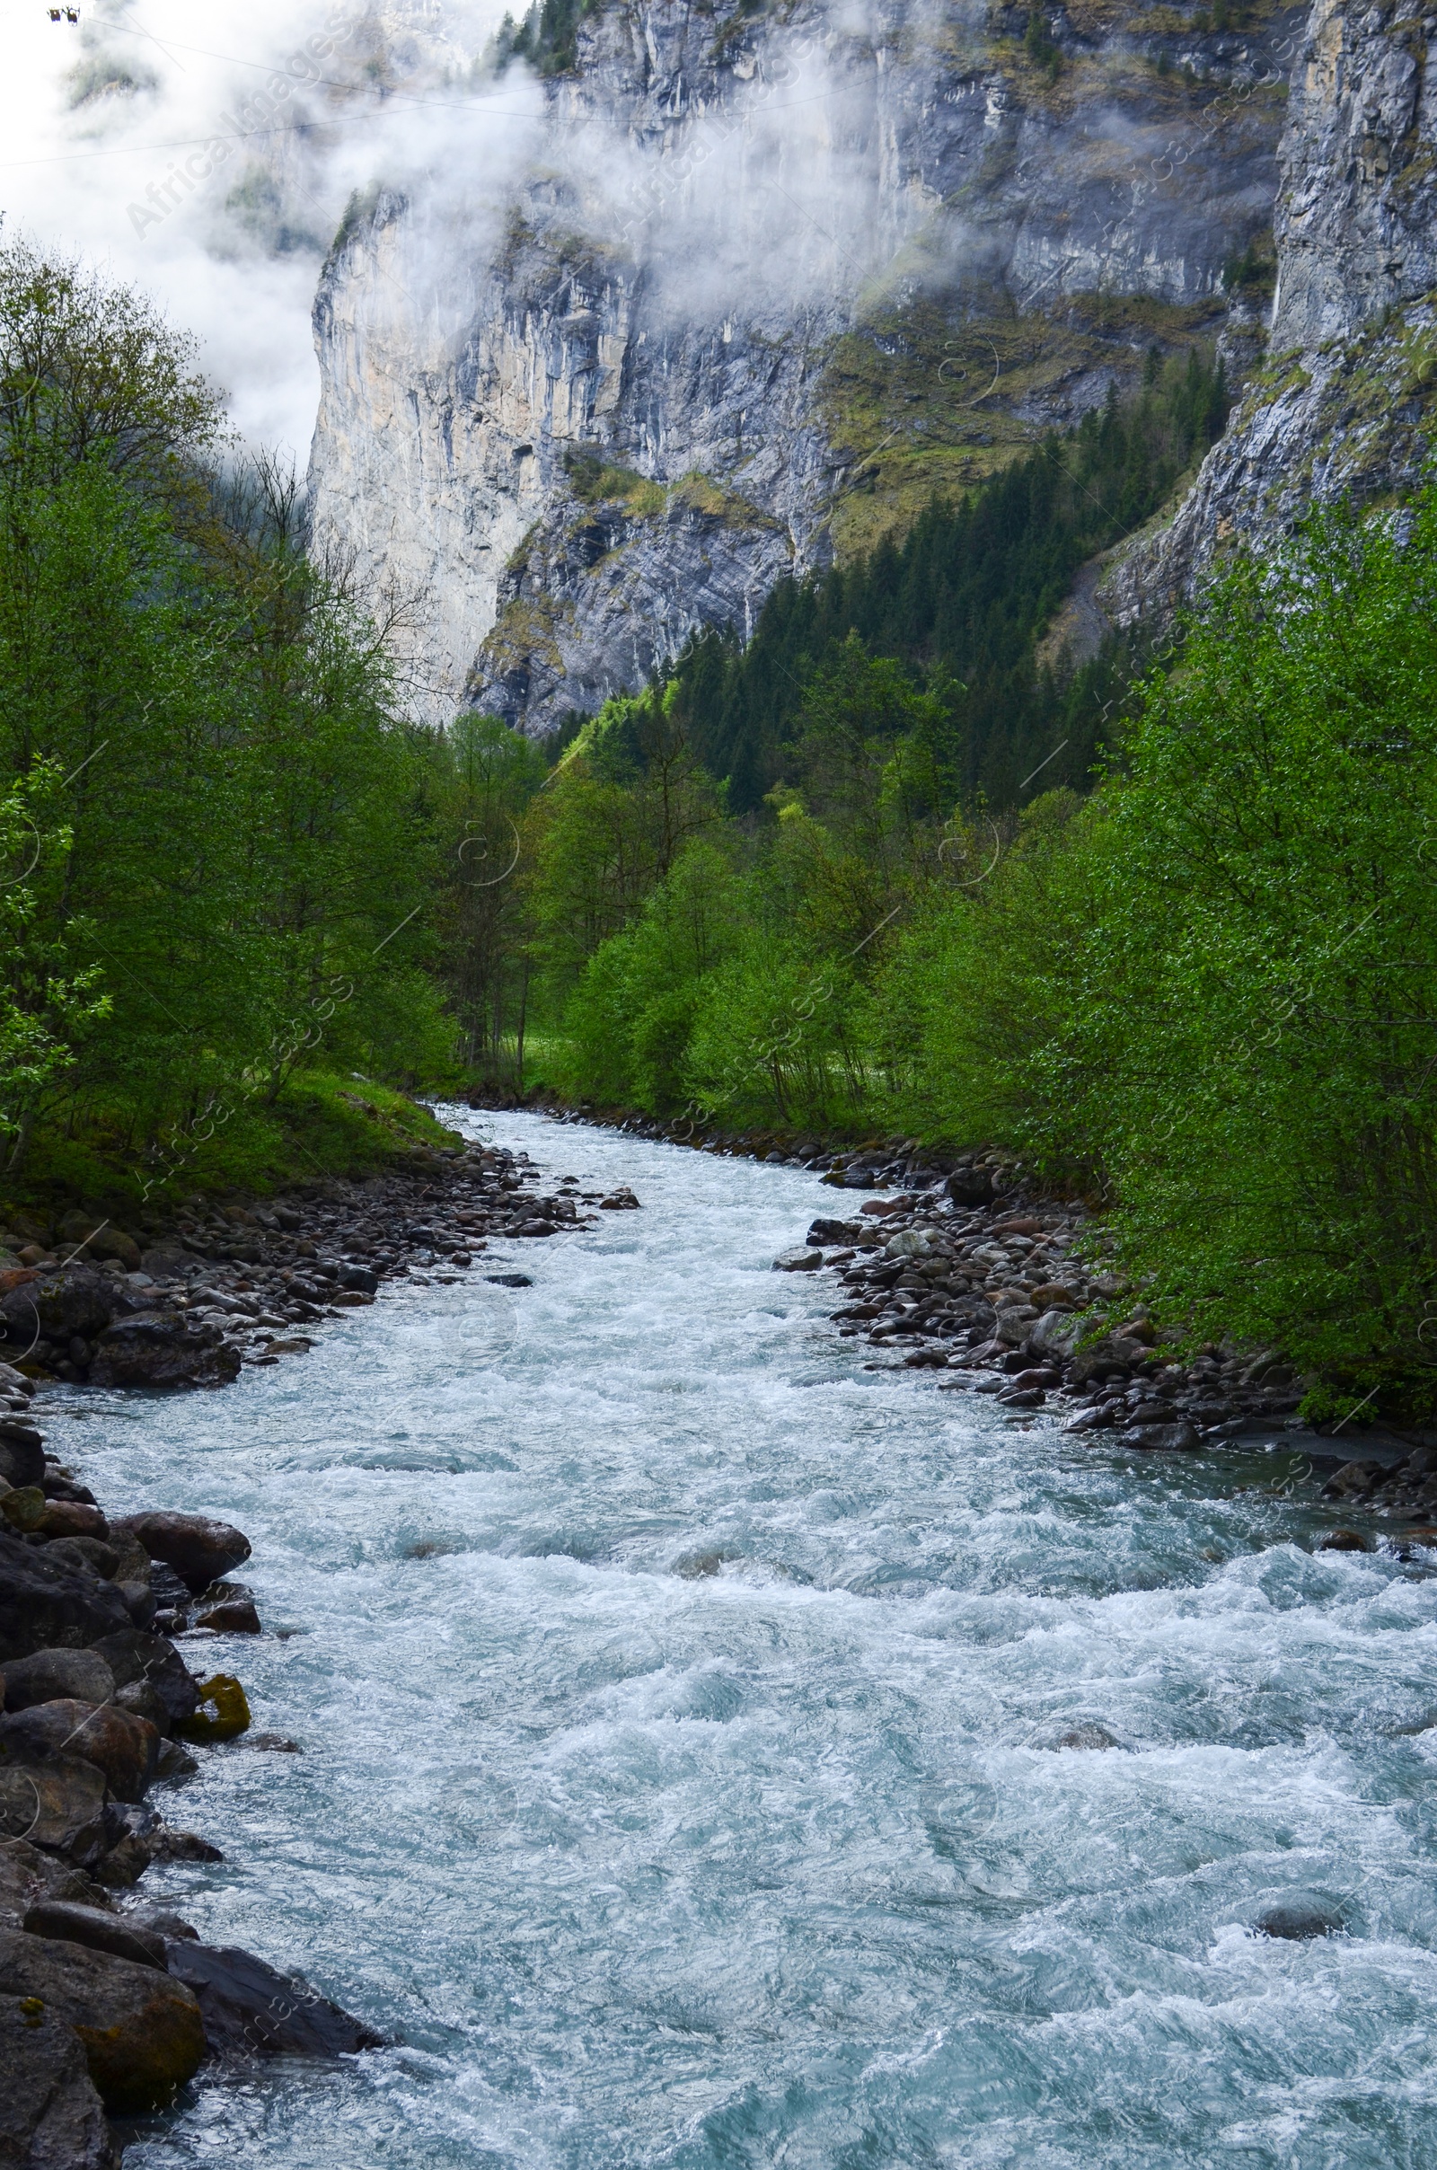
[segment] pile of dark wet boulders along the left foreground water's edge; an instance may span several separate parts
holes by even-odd
[[[0,1384],[33,1391],[9,1367]],[[202,1515],[106,1517],[13,1419],[0,1456],[33,1480],[0,1495],[0,2161],[106,2170],[109,2118],[167,2107],[204,2064],[354,2055],[380,2035],[135,1892],[154,1862],[221,1858],[152,1795],[169,1805],[195,1753],[250,1729],[241,1682],[198,1675],[176,1641],[191,1608],[258,1632],[228,1580],[250,1541]]]

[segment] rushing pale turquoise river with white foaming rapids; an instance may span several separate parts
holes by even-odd
[[[304,1747],[208,1753],[228,1862],[145,1894],[397,2042],[126,2170],[1430,2170],[1437,1580],[1313,1556],[1281,1463],[866,1371],[771,1272],[814,1176],[456,1120],[643,1211],[56,1395],[106,1506],[250,1532],[269,1632],[189,1656]],[[1296,1897],[1344,1933],[1250,1931]]]

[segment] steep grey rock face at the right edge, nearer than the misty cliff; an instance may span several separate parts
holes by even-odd
[[[1426,24],[1426,26],[1424,26]],[[1411,488],[1437,395],[1437,17],[1315,0],[1292,82],[1268,369],[1103,599],[1163,616],[1313,501]]]

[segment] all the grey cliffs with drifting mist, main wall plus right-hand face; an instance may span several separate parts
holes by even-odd
[[[1218,343],[1231,443],[1107,571],[1166,608],[1331,434],[1287,382],[1263,454],[1272,356],[1433,282],[1426,43],[1381,9],[612,0],[541,80],[541,17],[512,43],[373,165],[315,304],[317,534],[408,599],[434,718],[549,731]]]

